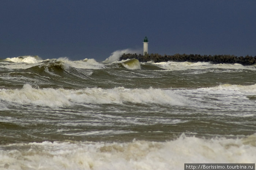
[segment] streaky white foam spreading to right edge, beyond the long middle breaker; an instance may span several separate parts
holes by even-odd
[[[208,88],[177,89],[176,93],[182,93],[191,98],[192,100],[188,101],[191,107],[212,110],[212,114],[255,116],[255,100],[250,100],[248,96],[256,95],[256,84],[222,84]]]

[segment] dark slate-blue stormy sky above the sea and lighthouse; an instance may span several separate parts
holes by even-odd
[[[256,55],[255,0],[1,0],[0,58]]]

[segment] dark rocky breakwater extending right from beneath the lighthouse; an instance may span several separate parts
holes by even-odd
[[[148,55],[137,55],[135,54],[123,54],[119,60],[126,59],[138,59],[140,62],[166,62],[166,61],[176,61],[176,62],[213,62],[219,63],[239,63],[242,65],[253,65],[256,63],[256,56],[252,57],[246,55],[245,57],[237,57],[234,55],[199,55],[199,54],[174,54],[174,55],[159,55],[159,54],[148,54]]]

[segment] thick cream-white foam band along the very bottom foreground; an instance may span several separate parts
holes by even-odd
[[[181,135],[167,142],[42,142],[1,146],[0,168],[155,170],[184,163],[255,163],[256,135],[201,139]]]

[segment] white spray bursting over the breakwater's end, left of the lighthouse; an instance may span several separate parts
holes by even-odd
[[[125,54],[139,54],[142,50],[132,50],[132,49],[124,49],[124,50],[116,50],[114,51],[108,58],[103,61],[103,63],[110,63],[114,61],[118,61],[119,58]]]

